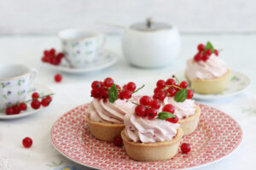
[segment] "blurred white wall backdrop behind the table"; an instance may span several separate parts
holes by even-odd
[[[0,34],[48,34],[73,26],[114,31],[153,17],[183,32],[255,32],[255,0],[0,0]]]

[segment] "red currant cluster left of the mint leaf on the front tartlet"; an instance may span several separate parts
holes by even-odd
[[[149,119],[153,119],[157,116],[157,110],[160,109],[160,101],[158,99],[143,96],[139,102],[140,104],[137,104],[135,108],[135,114],[137,116],[147,116]]]

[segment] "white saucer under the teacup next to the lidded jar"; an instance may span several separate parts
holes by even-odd
[[[62,59],[61,65],[51,65],[49,63],[45,63],[45,65],[48,65],[49,67],[58,70],[58,71],[63,71],[67,73],[86,73],[90,71],[98,71],[105,69],[113,64],[115,64],[118,60],[118,55],[115,54],[111,50],[104,49],[96,59],[92,61],[92,63],[86,65],[83,68],[72,68],[68,65],[66,59]]]

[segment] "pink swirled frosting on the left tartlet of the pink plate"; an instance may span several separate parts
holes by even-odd
[[[126,114],[134,111],[135,105],[128,100],[118,99],[114,103],[93,99],[88,108],[90,120],[94,122],[124,123]]]

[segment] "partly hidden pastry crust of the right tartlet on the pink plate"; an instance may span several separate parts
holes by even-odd
[[[201,115],[201,109],[199,106],[195,105],[195,114],[187,118],[178,120],[178,124],[183,129],[183,135],[188,135],[193,133],[198,126],[199,117]]]

